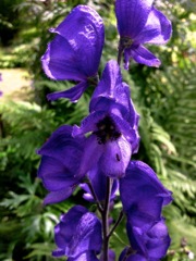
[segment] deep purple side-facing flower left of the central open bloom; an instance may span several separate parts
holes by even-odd
[[[38,177],[50,191],[45,204],[60,202],[70,197],[86,174],[81,170],[84,137],[72,137],[72,127],[58,128],[38,150],[42,156]]]

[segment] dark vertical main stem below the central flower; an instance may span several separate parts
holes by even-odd
[[[109,208],[110,208],[110,195],[112,187],[112,179],[107,177],[107,196],[105,201],[105,208],[102,211],[102,236],[103,236],[103,260],[108,261],[108,247],[109,247],[109,225],[108,225],[108,216],[109,216]]]

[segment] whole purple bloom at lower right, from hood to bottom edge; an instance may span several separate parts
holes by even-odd
[[[131,194],[131,196],[130,196]],[[140,161],[131,161],[126,175],[120,179],[120,196],[126,214],[126,231],[132,250],[123,251],[126,261],[158,261],[170,245],[162,207],[172,201],[156,173]]]

